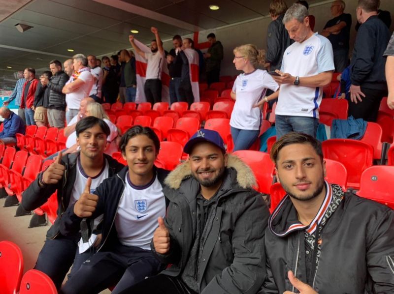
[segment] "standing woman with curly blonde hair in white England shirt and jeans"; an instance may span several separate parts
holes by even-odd
[[[231,113],[230,127],[234,142],[233,151],[236,151],[249,149],[258,138],[263,120],[259,107],[264,102],[278,97],[279,85],[266,70],[257,69],[265,63],[264,50],[246,44],[235,48],[233,52],[232,62],[235,68],[243,71],[236,78],[231,91],[235,105]],[[265,97],[267,88],[275,93]]]

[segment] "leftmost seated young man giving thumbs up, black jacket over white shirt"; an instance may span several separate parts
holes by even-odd
[[[55,162],[38,174],[22,197],[23,208],[33,210],[57,192],[58,217],[47,232],[47,240],[34,268],[46,273],[58,289],[74,261],[81,237],[78,231],[68,236],[60,233],[60,222],[65,210],[78,200],[88,178],[92,178],[90,188],[94,190],[105,178],[123,168],[122,164],[104,154],[110,130],[102,119],[81,119],[75,130],[80,152],[63,157],[60,152]]]

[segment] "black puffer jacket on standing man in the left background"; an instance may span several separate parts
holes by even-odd
[[[51,89],[49,92],[48,108],[66,110],[66,94],[62,93],[62,89],[67,81],[68,75],[63,70],[52,76],[48,83],[48,88]]]

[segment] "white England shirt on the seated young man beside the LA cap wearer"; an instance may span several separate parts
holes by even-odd
[[[131,183],[129,173],[115,217],[119,241],[126,246],[150,249],[157,218],[165,216],[163,187],[157,176],[145,186]]]

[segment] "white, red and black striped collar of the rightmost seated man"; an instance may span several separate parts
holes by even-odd
[[[268,226],[269,226],[270,231],[277,236],[288,235],[289,233],[291,233],[293,231],[302,230],[302,229],[306,230],[309,234],[313,234],[316,231],[317,226],[320,224],[323,217],[325,216],[325,214],[328,210],[329,204],[332,201],[331,185],[327,181],[325,181],[325,184],[326,184],[326,196],[324,198],[324,201],[323,201],[322,205],[320,206],[318,213],[316,214],[316,216],[314,217],[314,219],[311,221],[311,223],[308,226],[305,226],[302,223],[295,223],[295,224],[290,225],[290,227],[282,234],[278,234],[273,230],[273,228],[272,228],[273,219],[279,214],[282,206],[284,206],[284,204],[287,202],[288,198],[290,197],[289,194],[286,194],[286,196],[281,200],[281,202],[278,204],[278,206],[276,206],[271,217],[269,218]]]

